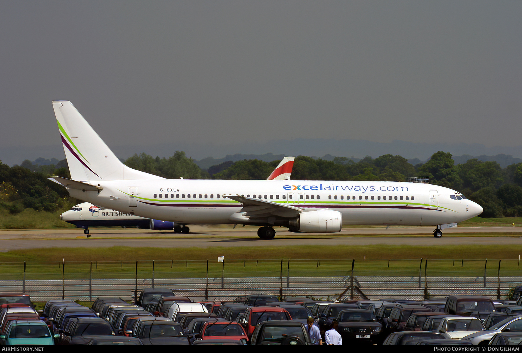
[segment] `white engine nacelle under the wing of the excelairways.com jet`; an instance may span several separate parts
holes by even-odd
[[[317,210],[301,212],[290,220],[291,231],[306,233],[335,233],[342,228],[342,215],[338,211]]]

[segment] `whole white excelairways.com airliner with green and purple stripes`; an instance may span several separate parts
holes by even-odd
[[[68,101],[53,102],[72,180],[52,177],[94,205],[182,224],[273,226],[339,232],[343,224],[432,225],[435,237],[482,213],[446,187],[378,181],[167,180],[125,166]]]

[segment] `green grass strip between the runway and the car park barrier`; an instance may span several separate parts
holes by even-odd
[[[105,279],[135,276],[155,278],[209,278],[283,275],[290,268],[291,276],[346,276],[355,259],[356,275],[418,276],[424,273],[428,259],[430,276],[496,276],[501,260],[501,275],[519,275],[519,254],[522,245],[462,246],[262,246],[232,248],[131,248],[97,249],[48,248],[0,253],[0,278],[19,280],[26,263],[25,276],[31,279],[61,279],[62,259],[65,278]],[[224,256],[225,262],[217,262]],[[421,268],[421,258],[424,259]],[[289,260],[290,259],[290,260]],[[448,260],[449,259],[449,260]],[[485,259],[488,259],[487,261]],[[90,262],[92,261],[92,263]],[[290,267],[289,267],[290,266]],[[92,272],[91,272],[92,269]],[[92,276],[92,277],[91,277]]]

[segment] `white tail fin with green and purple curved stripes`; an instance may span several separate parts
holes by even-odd
[[[164,179],[125,166],[67,100],[53,101],[70,176],[75,181]]]

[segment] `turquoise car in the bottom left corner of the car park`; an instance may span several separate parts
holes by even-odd
[[[0,335],[6,346],[14,345],[54,345],[53,335],[45,322],[40,320],[16,320],[9,325],[5,335]]]

